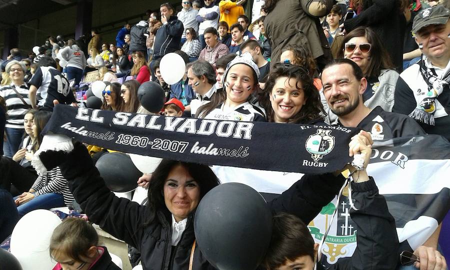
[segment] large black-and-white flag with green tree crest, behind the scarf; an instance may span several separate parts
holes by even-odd
[[[375,141],[372,148],[367,172],[375,179],[395,218],[401,250],[413,250],[428,239],[450,208],[450,143],[438,135],[409,136]],[[268,193],[265,194],[268,198],[281,193],[302,176],[236,167],[213,166],[213,169],[222,182],[248,184]],[[336,208],[337,214],[322,248],[322,258],[326,260],[323,262],[328,264],[351,256],[356,247],[348,190],[344,190],[339,205],[335,198],[308,224],[314,240],[319,242]]]

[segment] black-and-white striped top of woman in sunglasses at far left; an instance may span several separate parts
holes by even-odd
[[[15,93],[14,88],[23,97],[25,102],[29,105],[23,104],[22,100]],[[23,118],[26,112],[31,108],[31,101],[28,98],[28,85],[23,83],[20,86],[5,85],[0,88],[0,96],[4,97],[6,101],[6,109],[8,117],[6,119],[6,127],[23,129]]]

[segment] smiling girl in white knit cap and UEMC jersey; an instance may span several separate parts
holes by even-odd
[[[259,90],[259,69],[251,54],[245,52],[231,60],[223,75],[223,90],[197,109],[196,117],[217,120],[266,121],[265,111],[252,104]]]

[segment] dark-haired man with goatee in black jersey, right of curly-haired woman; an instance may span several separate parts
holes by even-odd
[[[407,115],[387,112],[379,106],[370,109],[364,105],[362,93],[367,86],[367,80],[363,77],[362,70],[355,62],[349,59],[333,60],[323,69],[321,79],[323,84],[321,94],[324,97],[322,100],[326,100],[326,103],[322,101],[322,104],[329,107],[338,116],[334,124],[359,127],[369,131],[373,140],[425,134],[420,125]],[[397,164],[404,166],[401,161]],[[423,245],[415,250],[417,254],[423,257],[422,261],[425,261],[425,263],[427,260],[428,262],[435,262],[437,257],[442,258],[440,253],[439,255],[435,253],[438,252],[436,246],[439,231],[440,227]],[[429,257],[428,252],[436,255]]]

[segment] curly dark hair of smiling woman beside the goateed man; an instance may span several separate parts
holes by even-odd
[[[288,122],[307,124],[311,121],[323,121],[323,117],[320,116],[320,113],[322,113],[322,115],[326,115],[326,113],[323,109],[322,103],[320,102],[319,92],[315,88],[308,71],[301,66],[286,63],[276,63],[273,65],[267,81],[265,82],[264,91],[259,96],[259,104],[265,109],[267,121],[275,121],[275,115],[270,102],[270,94],[272,93],[275,82],[279,77],[287,77],[288,79],[293,78],[297,82],[301,82],[304,97],[306,98],[306,104],[304,104],[300,111],[289,119]],[[296,87],[299,89],[298,85],[296,85]]]

